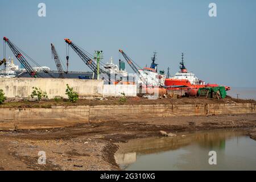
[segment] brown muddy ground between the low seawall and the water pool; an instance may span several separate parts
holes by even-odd
[[[249,128],[256,138],[256,114],[130,119],[48,130],[0,131],[0,170],[119,170],[118,143],[172,133]],[[46,165],[38,152],[46,152]]]

